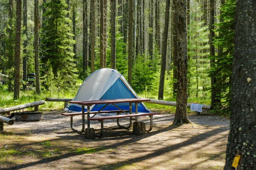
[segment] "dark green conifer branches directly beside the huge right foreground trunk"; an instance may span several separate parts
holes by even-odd
[[[235,10],[236,0],[228,0],[221,7],[220,18],[222,22],[216,24],[218,36],[215,37],[215,47],[223,48],[223,53],[217,56],[210,57],[215,59],[215,64],[209,70],[209,76],[215,76],[220,81],[216,83],[216,86],[221,88],[221,99],[224,104],[224,108],[221,111],[226,114],[230,110],[230,96],[231,96],[231,77],[232,77],[232,64],[233,64],[233,40],[235,29]]]

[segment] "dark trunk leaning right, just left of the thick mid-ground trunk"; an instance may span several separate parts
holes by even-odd
[[[162,44],[162,61],[161,61],[160,82],[159,82],[159,91],[158,91],[159,100],[163,100],[164,77],[165,77],[165,71],[166,71],[167,40],[168,40],[168,30],[169,30],[169,16],[170,16],[170,0],[166,0],[166,14],[165,14],[163,44]]]

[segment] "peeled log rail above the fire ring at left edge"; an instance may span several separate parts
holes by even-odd
[[[32,103],[26,103],[23,105],[17,105],[17,106],[13,106],[10,108],[3,108],[0,109],[0,113],[9,113],[11,111],[17,111],[17,110],[21,110],[21,109],[25,109],[25,108],[31,108],[31,107],[35,107],[35,111],[38,111],[38,106],[39,105],[44,105],[45,101],[44,100],[40,100],[40,101],[36,101],[36,102],[32,102]]]

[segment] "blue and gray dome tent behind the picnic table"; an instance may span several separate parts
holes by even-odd
[[[84,80],[72,101],[127,98],[139,98],[139,96],[137,96],[122,74],[110,68],[102,68],[94,71]],[[116,105],[123,110],[129,110],[129,103],[118,103]],[[135,104],[133,103],[132,106],[132,111],[135,112]],[[102,105],[92,105],[90,108],[91,111],[99,111]],[[111,110],[116,110],[116,107],[108,105],[103,109],[103,111]],[[77,104],[68,104],[65,111],[82,111],[82,108]],[[143,103],[139,103],[138,112],[148,113],[150,111]]]

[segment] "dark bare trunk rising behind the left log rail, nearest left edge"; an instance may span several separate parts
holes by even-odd
[[[20,29],[21,29],[21,0],[16,2],[16,28],[15,28],[15,60],[14,60],[14,94],[13,99],[20,98]]]

